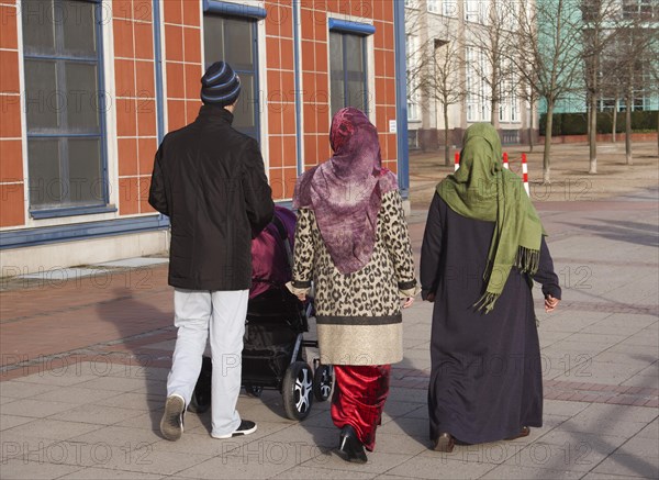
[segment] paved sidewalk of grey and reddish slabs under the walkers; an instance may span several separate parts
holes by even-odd
[[[276,391],[241,397],[242,415],[258,423],[253,435],[212,439],[209,414],[189,413],[183,437],[167,442],[158,431],[175,338],[167,268],[88,266],[2,284],[0,478],[658,478],[657,190],[537,206],[563,301],[547,315],[535,290],[545,426],[528,438],[429,450],[432,305],[418,301],[404,314],[405,358],[368,464],[332,453],[327,403],[292,422]],[[417,255],[424,221],[413,211]]]

